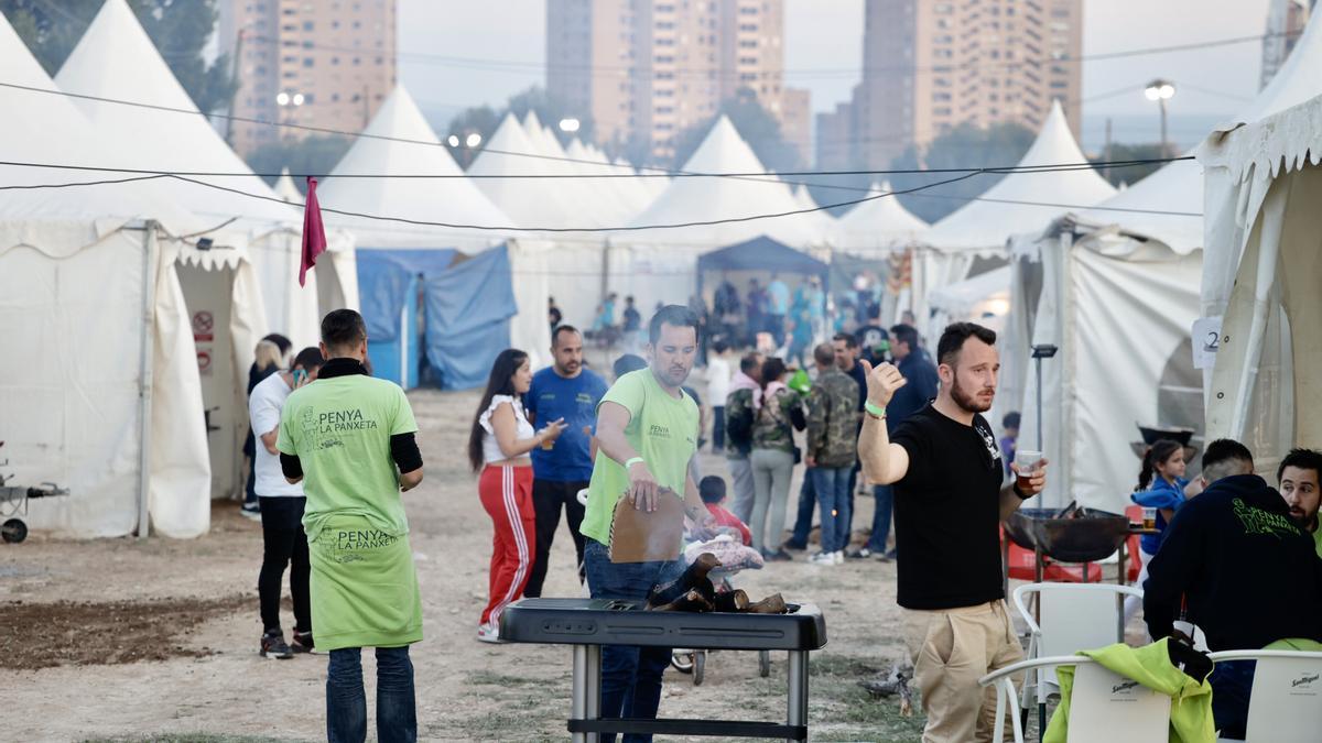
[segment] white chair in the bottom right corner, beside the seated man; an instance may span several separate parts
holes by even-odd
[[[1244,739],[1315,743],[1322,735],[1322,653],[1223,650],[1212,662],[1257,661]]]

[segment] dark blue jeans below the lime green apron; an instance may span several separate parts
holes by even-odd
[[[327,672],[327,740],[362,743],[366,738],[368,698],[362,691],[362,648],[330,650]],[[377,648],[377,740],[418,740],[418,710],[408,645]]]

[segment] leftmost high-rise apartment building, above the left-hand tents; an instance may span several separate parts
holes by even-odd
[[[222,0],[239,118],[358,132],[395,86],[395,0]],[[231,122],[241,155],[311,132]]]

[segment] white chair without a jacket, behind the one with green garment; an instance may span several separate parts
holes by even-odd
[[[1026,598],[1038,595],[1038,617]],[[1112,583],[1029,583],[1014,590],[1014,608],[1029,625],[1029,660],[1069,656],[1125,641],[1125,596],[1142,598],[1140,588]],[[1025,677],[1019,699],[1029,709],[1030,689],[1038,697],[1038,717],[1046,717],[1047,695],[1056,689],[1054,666],[1034,669]]]

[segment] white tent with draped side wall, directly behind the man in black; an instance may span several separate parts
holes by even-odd
[[[1170,163],[1036,239],[1015,241],[994,416],[999,424],[999,415],[1019,410],[1021,440],[1036,446],[1030,346],[1058,346],[1043,361],[1042,440],[1054,471],[1047,506],[1076,500],[1122,513],[1138,426],[1202,428],[1188,344],[1203,264],[1200,180],[1196,163]],[[1124,394],[1110,394],[1117,389]]]

